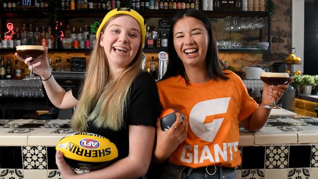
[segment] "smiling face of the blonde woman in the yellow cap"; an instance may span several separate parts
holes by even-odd
[[[140,42],[140,27],[133,17],[123,15],[109,22],[99,44],[105,50],[111,73],[128,67],[138,52]]]

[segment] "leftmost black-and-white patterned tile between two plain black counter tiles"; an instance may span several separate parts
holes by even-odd
[[[47,169],[46,147],[23,146],[22,153],[24,169]]]

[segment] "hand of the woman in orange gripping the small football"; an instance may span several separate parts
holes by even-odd
[[[173,126],[167,131],[162,131],[160,127],[160,119],[157,120],[157,143],[154,152],[154,161],[157,163],[163,162],[170,154],[177,149],[177,147],[185,140],[188,131],[188,122],[184,116],[183,122],[180,121],[180,113]]]

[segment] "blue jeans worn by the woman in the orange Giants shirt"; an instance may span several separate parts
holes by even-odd
[[[213,173],[214,168],[209,166],[208,171]],[[216,167],[215,174],[209,175],[205,171],[205,167],[192,170],[192,168],[174,165],[169,162],[160,165],[158,173],[159,179],[235,179],[234,168]]]

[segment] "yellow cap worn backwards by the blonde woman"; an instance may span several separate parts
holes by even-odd
[[[134,19],[136,19],[136,21],[138,22],[139,26],[140,26],[140,31],[141,31],[141,45],[144,44],[145,42],[145,37],[146,37],[146,21],[143,19],[143,17],[137,13],[135,10],[130,9],[130,8],[126,8],[126,7],[120,7],[120,8],[116,8],[113,9],[111,11],[109,11],[106,16],[104,17],[102,23],[100,24],[100,26],[97,29],[96,32],[96,38],[98,38],[100,31],[102,30],[102,27],[105,25],[105,23],[114,15],[117,14],[127,14],[131,17],[133,17]]]

